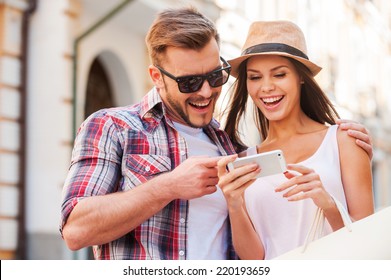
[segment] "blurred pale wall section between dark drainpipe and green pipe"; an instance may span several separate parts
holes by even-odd
[[[72,147],[71,26],[67,0],[38,2],[30,24],[26,235],[28,259],[62,258],[61,192]]]

